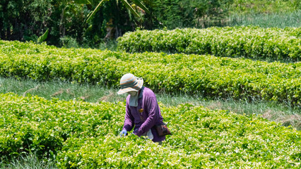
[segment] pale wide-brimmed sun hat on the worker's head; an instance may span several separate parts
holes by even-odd
[[[135,77],[131,73],[127,73],[120,79],[120,87],[117,94],[124,94],[126,92],[136,91],[138,92],[143,85],[143,79]]]

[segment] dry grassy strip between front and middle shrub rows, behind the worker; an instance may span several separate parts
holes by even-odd
[[[100,101],[125,101],[126,95],[118,95],[118,89],[107,89],[90,84],[71,84],[66,82],[36,82],[34,80],[16,80],[14,78],[0,77],[0,92],[13,92],[26,96],[28,94],[52,99],[52,97],[64,100],[83,100],[92,103]],[[292,125],[301,130],[301,108],[291,107],[289,104],[279,104],[261,100],[233,100],[228,99],[206,99],[201,96],[187,94],[171,95],[165,93],[156,94],[157,99],[166,106],[177,106],[179,104],[193,104],[205,106],[211,109],[222,109],[239,114],[261,115],[268,120],[273,120],[283,125]]]

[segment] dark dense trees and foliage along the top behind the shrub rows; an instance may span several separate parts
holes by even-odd
[[[273,20],[270,15],[290,19],[281,18],[281,23],[279,19],[275,19],[276,24],[264,25],[265,27],[297,27],[295,24],[300,25],[298,18],[301,15],[300,1],[297,0],[143,0],[150,13],[140,10],[141,18],[137,18],[120,1],[105,0],[93,19],[85,22],[99,2],[1,0],[0,39],[35,42],[49,30],[47,44],[99,47],[106,39],[116,39],[137,27],[154,30],[163,27],[175,29],[257,23],[264,25],[266,20]],[[138,8],[134,2],[129,1],[134,8]],[[249,15],[257,18],[257,23],[250,20]],[[281,25],[283,20],[288,23]]]

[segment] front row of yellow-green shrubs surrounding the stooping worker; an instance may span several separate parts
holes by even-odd
[[[172,135],[161,146],[118,137],[120,103],[0,94],[0,159],[28,151],[59,168],[300,168],[301,132],[229,111],[160,105]]]

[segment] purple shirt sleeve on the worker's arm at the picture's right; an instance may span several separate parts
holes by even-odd
[[[159,106],[157,103],[157,99],[155,97],[150,97],[148,101],[146,101],[147,110],[148,110],[148,118],[146,121],[139,127],[137,135],[141,136],[143,133],[147,132],[151,129],[157,122],[160,114],[159,114]]]

